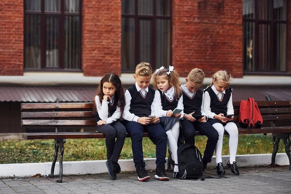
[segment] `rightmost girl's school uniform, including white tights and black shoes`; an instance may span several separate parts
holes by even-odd
[[[216,114],[223,113],[234,114],[233,105],[232,105],[232,89],[227,88],[222,93],[219,93],[215,86],[212,85],[204,91],[204,100],[203,107],[206,115],[209,117],[208,122],[217,130],[219,134],[219,139],[215,148],[216,155],[216,164],[217,169],[223,169],[219,167],[222,164],[222,145],[223,145],[223,135],[226,130],[229,134],[229,162],[231,165],[234,165],[234,168],[231,168],[232,172],[235,175],[239,175],[238,169],[236,167],[236,152],[238,146],[238,128],[233,122],[222,123],[220,120],[214,119],[213,117]],[[218,172],[218,171],[217,171]]]

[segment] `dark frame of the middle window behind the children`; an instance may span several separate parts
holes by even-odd
[[[139,15],[138,14],[138,0],[134,0],[134,14],[123,14],[122,10],[121,10],[121,19],[124,18],[134,18],[134,26],[135,26],[135,32],[134,32],[134,47],[135,47],[135,53],[134,53],[134,61],[135,61],[135,65],[138,65],[139,63],[141,63],[142,61],[139,61],[139,21],[141,19],[143,20],[150,20],[151,21],[151,45],[152,45],[152,49],[151,49],[151,66],[152,69],[156,69],[156,20],[157,19],[169,19],[170,20],[170,65],[172,64],[172,33],[173,33],[173,20],[172,20],[172,15],[173,15],[173,0],[170,0],[170,16],[157,16],[156,15],[156,0],[153,0],[153,14],[152,15]],[[122,3],[122,2],[121,2]],[[121,49],[122,49],[122,43],[121,43]],[[120,50],[120,52],[122,52],[122,50]],[[134,68],[130,68],[130,69],[124,69],[122,67],[122,56],[121,56],[121,72],[122,73],[132,73],[135,71],[135,67]]]

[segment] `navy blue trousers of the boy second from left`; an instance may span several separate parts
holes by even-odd
[[[143,132],[146,130],[156,140],[156,164],[166,163],[167,135],[160,123],[142,125],[135,121],[125,121],[125,127],[130,133],[133,162],[135,166],[144,162]]]

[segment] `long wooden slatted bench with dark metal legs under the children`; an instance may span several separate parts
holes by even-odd
[[[58,101],[58,100],[57,100]],[[291,133],[291,123],[282,124],[281,121],[291,121],[291,101],[257,101],[261,114],[263,115],[263,126],[261,129],[253,129],[253,133],[273,133],[273,134],[288,134]],[[238,114],[240,102],[234,101],[234,122],[238,123]],[[54,167],[59,156],[59,179],[57,182],[62,182],[63,178],[63,155],[65,139],[84,139],[84,138],[105,138],[105,135],[98,132],[59,132],[59,127],[94,127],[95,120],[93,112],[93,103],[22,103],[21,104],[21,126],[36,127],[41,130],[42,127],[55,127],[55,132],[37,132],[23,133],[23,138],[31,139],[54,139],[54,157],[51,166],[50,178],[54,177]],[[275,123],[280,122],[281,126],[276,127]],[[239,128],[239,134],[249,134],[248,129]],[[227,133],[226,133],[227,134]],[[203,135],[196,131],[196,135]],[[289,134],[288,134],[289,135]],[[288,136],[287,135],[287,136]],[[129,134],[127,135],[129,137]],[[148,137],[144,133],[144,137]],[[288,136],[289,137],[289,136]],[[275,143],[278,143],[275,141]],[[275,151],[274,143],[274,151]],[[290,159],[290,145],[286,138],[284,140],[286,153]],[[288,152],[289,151],[289,152]],[[274,152],[276,153],[276,152]],[[274,154],[273,153],[273,154]],[[273,160],[273,157],[272,157]],[[291,159],[290,159],[291,162]],[[272,161],[273,163],[273,161]],[[275,164],[275,156],[274,156]],[[290,166],[291,168],[291,166]],[[291,169],[290,169],[291,170]]]

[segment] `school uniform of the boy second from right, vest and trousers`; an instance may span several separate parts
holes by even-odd
[[[185,84],[181,85],[184,113],[192,116],[206,115],[203,111],[203,91],[198,89],[195,92],[190,92]],[[184,115],[183,115],[184,116]],[[187,119],[181,121],[183,136],[185,143],[194,145],[195,131],[201,131],[208,137],[204,151],[203,162],[208,163],[214,153],[215,146],[218,141],[218,132],[208,122],[191,122]]]

